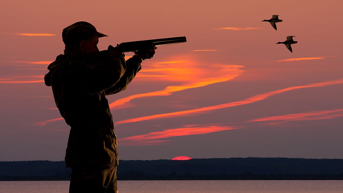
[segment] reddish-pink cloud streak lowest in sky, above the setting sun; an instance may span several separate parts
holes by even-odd
[[[228,127],[221,124],[214,125],[186,125],[182,128],[167,129],[158,132],[151,132],[144,135],[135,135],[118,139],[120,145],[161,145],[170,140],[156,140],[185,135],[201,135],[223,130],[238,129],[238,127]]]

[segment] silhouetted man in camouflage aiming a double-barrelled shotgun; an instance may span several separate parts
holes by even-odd
[[[186,42],[186,37],[126,42],[99,51],[99,37],[87,22],[62,31],[64,54],[48,66],[45,84],[51,86],[56,106],[71,127],[66,166],[71,167],[69,192],[117,192],[118,150],[106,95],[127,88],[155,46]],[[125,61],[123,52],[134,52]]]

